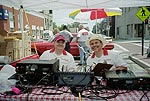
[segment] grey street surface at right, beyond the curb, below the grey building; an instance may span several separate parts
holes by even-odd
[[[119,50],[122,52],[127,52],[130,56],[137,58],[137,60],[141,60],[146,64],[150,64],[150,57],[147,57],[147,49],[150,47],[149,40],[144,43],[144,51],[142,54],[142,44],[141,40],[138,41],[117,41],[115,42],[114,50]]]

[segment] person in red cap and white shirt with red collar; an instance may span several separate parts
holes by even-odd
[[[57,34],[54,38],[54,48],[45,51],[40,60],[59,59],[59,71],[74,71],[76,64],[73,56],[64,50],[66,40],[63,35]]]

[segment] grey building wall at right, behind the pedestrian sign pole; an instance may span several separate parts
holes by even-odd
[[[142,21],[136,16],[138,7],[122,8],[123,14],[116,16],[115,18],[115,37],[122,39],[137,39],[141,38],[141,34],[138,32],[138,27],[141,26]],[[145,25],[145,38],[149,37],[148,25]],[[117,33],[119,28],[119,35]]]

